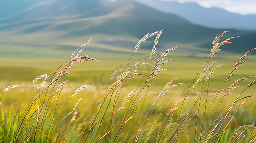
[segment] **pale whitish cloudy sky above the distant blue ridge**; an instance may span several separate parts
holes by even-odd
[[[229,12],[239,13],[242,15],[256,14],[256,0],[162,0],[162,1],[178,1],[196,2],[199,5],[210,8],[223,8]]]

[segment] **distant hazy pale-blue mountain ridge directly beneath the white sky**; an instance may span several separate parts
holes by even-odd
[[[256,30],[256,15],[230,13],[221,8],[204,8],[197,3],[136,0],[166,13],[176,14],[190,22],[211,28]]]

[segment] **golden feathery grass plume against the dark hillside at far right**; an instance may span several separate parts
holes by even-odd
[[[221,35],[219,37],[217,37],[218,35],[216,35],[214,41],[212,42],[212,45],[213,45],[213,48],[211,49],[211,54],[210,56],[212,57],[214,53],[220,51],[220,47],[227,44],[227,43],[233,43],[233,42],[228,42],[230,39],[233,39],[233,38],[238,38],[239,36],[236,36],[236,37],[230,37],[230,38],[227,38],[225,40],[223,40],[222,42],[219,43],[219,40],[221,39],[221,37],[227,33],[229,31],[224,31],[221,33]]]

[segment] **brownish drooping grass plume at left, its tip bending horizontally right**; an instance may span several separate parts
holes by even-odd
[[[88,62],[89,62],[89,60],[99,61],[99,60],[94,59],[94,58],[89,58],[88,56],[76,57],[76,58],[72,59],[71,61],[69,61],[64,66],[64,68],[60,72],[57,73],[56,77],[50,82],[50,85],[57,82],[63,76],[69,74],[69,71],[67,71],[67,69],[73,67],[74,61],[82,62],[81,60],[85,60],[85,61],[88,61]]]

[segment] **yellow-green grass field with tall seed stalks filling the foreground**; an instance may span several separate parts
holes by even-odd
[[[158,35],[157,44],[160,34],[147,35],[138,45],[154,35]],[[232,38],[215,39],[209,56],[172,53],[178,48],[170,48],[150,58],[150,51],[137,45],[130,57],[94,53],[92,57],[100,61],[79,56],[83,48],[67,61],[60,56],[47,60],[2,57],[0,142],[254,143],[256,82],[249,76],[255,76],[256,57],[247,53],[243,63],[241,56],[214,55],[220,46],[229,44],[228,40]],[[108,57],[115,59],[106,60]],[[239,68],[236,63],[241,64]],[[63,72],[57,74],[60,70]],[[45,73],[48,79],[32,83]],[[139,73],[143,75],[136,75]],[[248,78],[232,85],[244,77]],[[127,78],[131,79],[124,84]],[[37,86],[44,80],[44,87]],[[3,92],[18,83],[19,87]],[[229,89],[221,90],[224,88]]]

